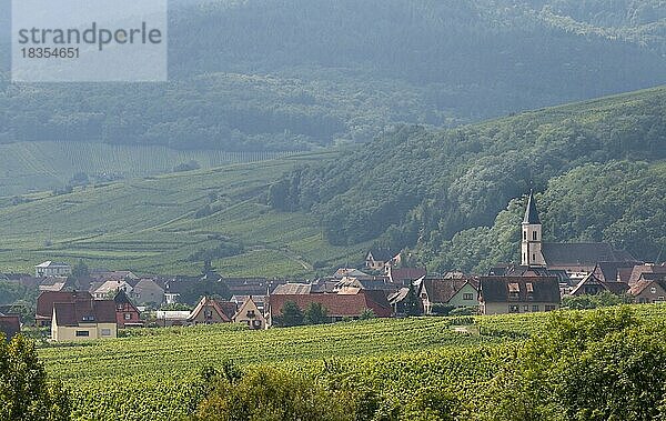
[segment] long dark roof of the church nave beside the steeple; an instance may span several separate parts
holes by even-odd
[[[597,262],[636,261],[628,252],[615,250],[608,243],[555,243],[542,244],[542,254],[548,265],[589,264]]]

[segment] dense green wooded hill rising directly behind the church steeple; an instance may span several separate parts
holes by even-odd
[[[312,211],[334,244],[410,248],[438,270],[516,261],[521,198],[535,189],[544,238],[666,253],[666,88],[447,131],[404,127],[270,189]],[[660,254],[662,252],[662,254]]]

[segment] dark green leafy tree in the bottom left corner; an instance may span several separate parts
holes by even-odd
[[[1,421],[70,419],[67,391],[48,382],[34,343],[20,334],[9,343],[0,334],[0,402]]]

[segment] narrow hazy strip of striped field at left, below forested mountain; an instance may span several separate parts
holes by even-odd
[[[0,144],[0,197],[62,188],[73,174],[118,174],[125,179],[169,173],[196,161],[210,169],[276,158],[272,152],[185,151],[167,147],[82,142]]]

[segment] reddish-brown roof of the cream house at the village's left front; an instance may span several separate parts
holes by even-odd
[[[53,304],[56,323],[77,327],[80,323],[115,323],[115,302],[112,300],[77,300]]]

